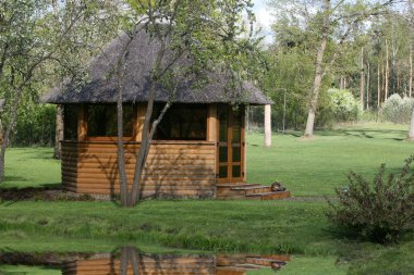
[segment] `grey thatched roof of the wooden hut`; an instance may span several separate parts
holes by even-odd
[[[77,88],[74,88],[72,83],[61,84],[46,95],[42,98],[44,101],[57,104],[117,102],[118,85],[113,71],[127,39],[126,35],[119,36],[104,49],[100,57],[92,61],[86,84]],[[125,74],[122,78],[123,100],[125,102],[145,102],[147,101],[150,85],[149,72],[153,68],[159,45],[155,39],[150,39],[145,30],[141,30],[132,40],[130,49]],[[187,61],[180,62],[182,64],[188,63]],[[192,88],[190,82],[182,82],[173,101],[180,103],[273,103],[251,83],[243,83],[241,88],[224,92],[228,87],[228,78],[220,73],[207,74],[209,75],[209,82],[198,89]],[[168,96],[168,90],[158,87],[156,101],[166,102]]]

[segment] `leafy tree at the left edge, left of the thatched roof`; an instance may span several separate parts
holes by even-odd
[[[4,155],[22,100],[37,100],[53,78],[80,76],[80,57],[88,55],[105,35],[99,27],[112,20],[99,11],[111,1],[73,1],[57,4],[48,0],[4,0],[0,3],[0,88],[4,99],[1,121],[0,183]],[[98,24],[99,22],[99,24]],[[87,26],[87,27],[86,27]],[[76,57],[76,58],[75,58]]]

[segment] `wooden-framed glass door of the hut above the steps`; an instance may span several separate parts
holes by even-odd
[[[217,177],[218,183],[244,180],[243,108],[218,107]]]

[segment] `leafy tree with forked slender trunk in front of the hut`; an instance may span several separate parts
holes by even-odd
[[[138,200],[139,184],[155,130],[172,104],[180,82],[190,78],[200,85],[208,80],[209,71],[220,70],[229,76],[229,90],[239,89],[242,79],[245,79],[251,71],[255,45],[252,42],[252,25],[246,28],[243,24],[244,11],[248,20],[253,21],[249,0],[130,0],[127,3],[134,14],[134,21],[129,25],[134,27],[124,30],[127,38],[114,72],[118,83],[118,168],[121,204],[133,207]],[[122,78],[131,41],[143,29],[150,34],[156,58],[150,73],[143,134],[130,189],[122,140]],[[191,62],[182,62],[183,60]],[[170,99],[160,115],[153,120],[159,86],[168,89]]]

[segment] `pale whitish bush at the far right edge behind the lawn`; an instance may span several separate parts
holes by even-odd
[[[401,98],[400,95],[393,93],[383,102],[381,114],[389,122],[409,123],[413,108],[414,99],[407,97]]]

